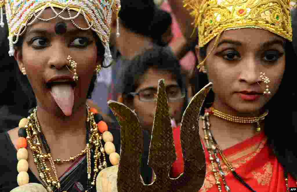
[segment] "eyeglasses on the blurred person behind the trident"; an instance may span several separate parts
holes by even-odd
[[[139,100],[143,102],[154,102],[157,101],[157,92],[158,90],[154,87],[149,87],[140,90],[139,92],[130,92],[128,95],[139,96]],[[177,85],[170,85],[166,87],[167,98],[170,101],[176,101],[182,99],[186,96],[185,91],[181,90],[181,88]]]

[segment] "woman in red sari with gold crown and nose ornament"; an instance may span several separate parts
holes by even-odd
[[[290,2],[200,3],[185,2],[199,30],[198,67],[213,83],[199,119],[206,157],[200,191],[283,192],[297,187],[296,149],[291,145],[296,130],[290,126],[288,105],[293,98],[286,86],[296,58]]]

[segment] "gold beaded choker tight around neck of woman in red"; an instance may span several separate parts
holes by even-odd
[[[235,123],[256,123],[257,124],[257,127],[256,127],[257,132],[261,131],[260,122],[262,120],[264,120],[265,117],[268,115],[268,110],[265,111],[259,117],[236,117],[236,116],[232,116],[229,114],[225,114],[221,111],[218,111],[217,109],[214,109],[213,107],[206,109],[206,111],[209,114],[213,114],[216,117],[219,117],[219,118],[227,120],[227,121],[235,122]]]

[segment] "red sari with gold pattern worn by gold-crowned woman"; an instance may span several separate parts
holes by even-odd
[[[267,138],[264,133],[259,133],[252,138],[234,145],[223,151],[226,158],[232,164],[235,171],[244,179],[252,189],[257,192],[285,192],[284,170],[272,150],[266,144]],[[203,143],[203,142],[202,142]],[[218,192],[215,184],[214,174],[211,172],[212,166],[209,160],[209,154],[203,144],[206,158],[206,177],[204,184],[199,192]],[[245,154],[245,155],[241,155]],[[219,155],[219,154],[218,154]],[[236,156],[236,157],[234,157]],[[238,158],[239,157],[239,158]],[[232,192],[250,192],[242,185],[229,171],[219,156],[222,170],[225,173],[227,185]],[[217,167],[217,164],[215,163]],[[222,191],[225,192],[222,179]],[[296,187],[296,180],[288,174],[288,186]]]

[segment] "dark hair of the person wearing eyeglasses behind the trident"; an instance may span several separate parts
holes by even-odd
[[[139,86],[140,78],[150,68],[157,70],[166,70],[174,75],[178,86],[186,90],[185,77],[181,75],[181,66],[176,57],[168,48],[155,46],[145,51],[142,55],[136,56],[132,61],[127,61],[127,67],[122,71],[121,84],[116,89],[118,92],[127,96],[130,92],[135,92]],[[131,100],[133,97],[127,97]]]

